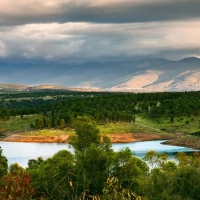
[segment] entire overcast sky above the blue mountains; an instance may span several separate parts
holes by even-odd
[[[200,0],[0,0],[0,57],[200,57]]]

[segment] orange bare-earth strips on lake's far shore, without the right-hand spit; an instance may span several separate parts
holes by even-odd
[[[7,142],[36,142],[36,143],[67,143],[69,135],[20,135],[12,134],[4,137],[2,141]],[[146,134],[146,133],[120,133],[109,134],[112,143],[129,143],[151,140],[171,139],[174,136],[169,134]]]

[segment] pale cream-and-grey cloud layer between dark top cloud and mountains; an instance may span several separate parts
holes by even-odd
[[[199,27],[200,20],[4,27],[0,32],[0,49],[4,53],[0,56],[70,61],[199,56]]]

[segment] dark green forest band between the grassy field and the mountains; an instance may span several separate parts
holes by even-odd
[[[23,92],[0,94],[0,118],[43,114],[32,128],[72,125],[77,116],[91,116],[97,123],[134,122],[135,115],[171,123],[178,117],[200,115],[200,92],[108,93]],[[187,123],[187,122],[186,122]]]

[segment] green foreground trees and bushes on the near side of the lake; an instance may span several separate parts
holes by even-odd
[[[29,160],[26,169],[8,167],[0,150],[0,199],[200,199],[199,153],[179,153],[176,163],[151,151],[141,160],[129,149],[114,152],[89,117],[78,117],[75,131],[69,138],[73,153]]]

